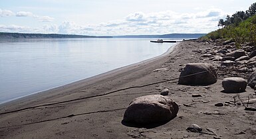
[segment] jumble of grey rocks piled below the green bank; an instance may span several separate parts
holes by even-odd
[[[221,67],[235,66],[240,71],[256,70],[256,50],[250,44],[242,44],[240,49],[237,49],[233,40],[213,40],[209,44],[215,46],[201,51],[201,58],[209,58],[213,62],[221,61]]]

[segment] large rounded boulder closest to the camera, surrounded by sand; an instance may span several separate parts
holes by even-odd
[[[170,97],[146,95],[130,103],[124,113],[124,122],[152,124],[168,122],[177,116],[179,107]]]

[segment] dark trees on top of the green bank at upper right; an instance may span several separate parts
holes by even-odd
[[[219,19],[218,26],[228,26],[230,24],[233,24],[235,26],[238,26],[239,23],[242,21],[245,21],[249,17],[252,17],[256,13],[256,3],[253,3],[247,11],[237,11],[232,16],[227,15],[227,17],[224,19]]]

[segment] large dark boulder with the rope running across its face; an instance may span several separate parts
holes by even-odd
[[[190,63],[180,73],[180,85],[210,85],[216,83],[216,69],[211,64]]]

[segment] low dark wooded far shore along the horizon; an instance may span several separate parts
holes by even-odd
[[[87,36],[76,34],[36,34],[36,33],[17,33],[0,32],[0,39],[19,39],[19,38],[199,38],[205,34],[184,33],[184,34],[160,34],[160,35],[122,35],[122,36]]]

